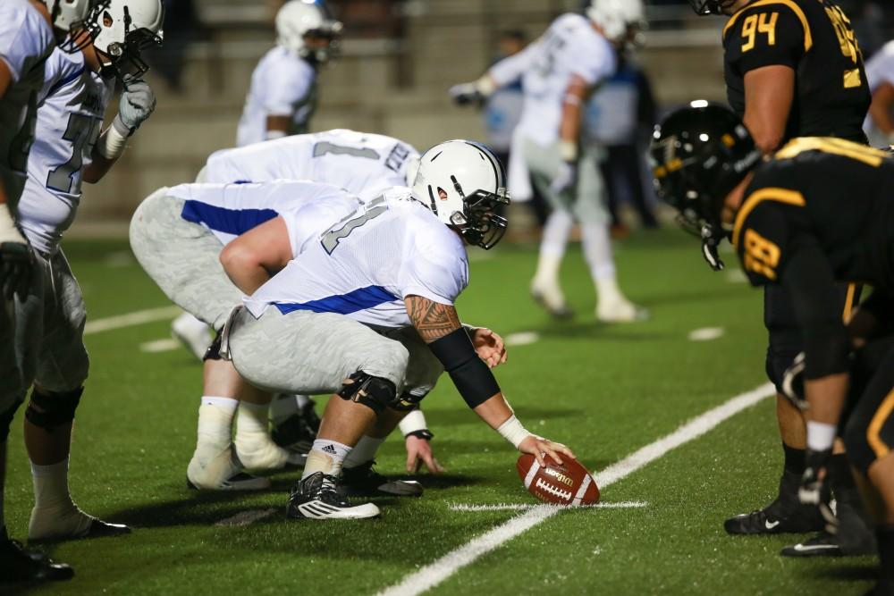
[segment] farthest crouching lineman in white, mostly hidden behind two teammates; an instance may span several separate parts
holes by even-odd
[[[384,189],[412,181],[418,160],[417,150],[400,139],[354,130],[328,130],[218,151],[208,158],[197,180],[316,180],[346,189],[361,200],[370,200],[381,195]],[[198,357],[204,356],[211,342],[205,323],[184,313],[174,320],[172,331],[188,346],[197,346],[199,349],[193,348],[193,351],[198,352]],[[208,371],[205,378],[209,379]],[[239,384],[238,379],[233,379],[228,386],[236,388]],[[249,420],[255,417],[254,408],[263,403],[254,392],[249,392],[249,399],[240,400],[240,419],[242,416]],[[272,403],[271,417],[276,443],[296,453],[307,453],[319,425],[314,404],[308,396],[278,396]],[[254,428],[254,424],[237,424],[236,450],[243,464],[250,469],[275,469],[285,464],[279,449],[262,444],[261,436],[256,432],[245,436],[244,428]],[[432,455],[428,442],[432,435],[421,412],[401,420],[401,432],[408,450],[408,469],[414,469],[417,461],[421,461],[433,472],[441,470]],[[358,462],[358,465],[365,463]],[[219,484],[206,481],[197,485],[240,488],[240,484],[225,480],[220,479]]]

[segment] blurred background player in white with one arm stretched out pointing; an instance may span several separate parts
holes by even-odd
[[[618,287],[597,155],[579,137],[583,103],[614,71],[613,44],[621,43],[628,26],[641,20],[642,6],[639,0],[592,0],[586,13],[588,18],[561,15],[523,52],[494,64],[476,82],[452,88],[451,95],[460,103],[487,97],[522,76],[525,106],[516,134],[527,168],[553,208],[531,293],[552,315],[571,315],[558,279],[569,232],[578,220],[598,294],[596,317],[635,321],[645,311]]]

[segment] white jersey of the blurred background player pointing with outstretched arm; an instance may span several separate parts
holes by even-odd
[[[489,71],[498,85],[522,74],[525,105],[519,129],[542,146],[559,139],[562,102],[578,75],[595,87],[614,72],[611,43],[593,29],[593,23],[579,14],[563,14],[552,21],[536,42],[517,55],[494,64]]]

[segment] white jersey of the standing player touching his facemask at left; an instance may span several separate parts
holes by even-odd
[[[81,52],[56,48],[46,60],[19,224],[31,246],[48,255],[74,221],[81,175],[93,163],[93,146],[113,93],[114,84],[90,70]]]

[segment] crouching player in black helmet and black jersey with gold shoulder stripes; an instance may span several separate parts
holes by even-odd
[[[795,498],[819,505],[834,526],[822,494],[836,482],[826,473],[842,437],[875,517],[881,573],[867,594],[894,596],[894,160],[818,137],[793,139],[765,162],[761,154],[738,116],[707,102],[671,114],[652,149],[662,196],[681,219],[728,231],[752,285],[789,291],[804,352],[801,382],[792,382],[793,366],[786,387],[808,419]],[[872,284],[873,295],[848,322],[839,284],[857,281]],[[846,540],[839,554],[855,554]]]

